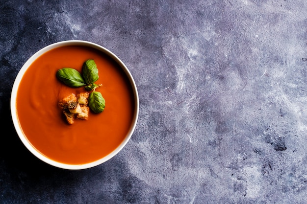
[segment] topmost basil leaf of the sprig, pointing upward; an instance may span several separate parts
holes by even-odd
[[[82,75],[87,85],[91,85],[99,79],[98,68],[94,60],[86,60],[83,63]]]

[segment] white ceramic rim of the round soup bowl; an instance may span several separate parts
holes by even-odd
[[[24,73],[26,72],[27,68],[43,53],[45,53],[45,52],[47,52],[51,49],[57,48],[57,47],[71,46],[71,45],[81,45],[81,46],[92,47],[94,49],[102,51],[104,54],[111,57],[117,64],[119,64],[119,66],[123,69],[126,76],[128,77],[128,80],[129,80],[131,87],[132,87],[133,97],[134,97],[133,120],[131,122],[130,129],[129,129],[125,139],[122,141],[122,143],[115,150],[113,150],[111,153],[109,153],[108,155],[106,155],[102,159],[99,159],[99,160],[96,160],[96,161],[93,161],[93,162],[90,162],[90,163],[85,163],[85,164],[65,164],[65,163],[61,163],[61,162],[52,160],[52,159],[46,157],[45,155],[43,155],[42,153],[40,153],[29,142],[29,140],[26,138],[25,134],[23,133],[22,128],[19,124],[19,120],[18,120],[18,116],[17,116],[17,109],[16,109],[17,91],[18,91],[18,88],[19,88],[19,84],[22,80],[22,77],[23,77]],[[13,87],[12,87],[12,91],[11,91],[11,97],[10,97],[10,109],[11,109],[11,118],[12,118],[12,121],[13,121],[14,128],[17,132],[17,135],[21,139],[22,143],[26,146],[26,148],[34,156],[36,156],[38,159],[40,159],[40,160],[42,160],[42,161],[44,161],[44,162],[46,162],[46,163],[48,163],[48,164],[50,164],[54,167],[58,167],[58,168],[61,168],[61,169],[68,169],[68,170],[81,170],[81,169],[88,169],[88,168],[91,168],[91,167],[95,167],[95,166],[98,166],[98,165],[106,162],[107,160],[109,160],[109,159],[113,158],[115,155],[117,155],[124,148],[124,146],[126,146],[126,144],[128,143],[130,137],[132,136],[132,134],[134,132],[134,129],[136,127],[136,123],[137,123],[137,120],[138,120],[139,97],[138,97],[137,87],[136,87],[136,84],[135,84],[135,81],[133,79],[132,74],[130,73],[130,71],[126,67],[126,65],[113,52],[111,52],[110,50],[108,50],[107,48],[105,48],[101,45],[98,45],[96,43],[92,43],[92,42],[89,42],[89,41],[67,40],[67,41],[60,41],[60,42],[53,43],[51,45],[47,45],[47,46],[43,47],[42,49],[38,50],[36,53],[34,53],[30,58],[28,58],[26,63],[19,70],[19,72],[18,72],[18,74],[15,78],[15,81],[13,83]]]

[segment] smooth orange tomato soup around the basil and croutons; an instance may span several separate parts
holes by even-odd
[[[56,78],[60,68],[81,72],[87,59],[99,69],[96,91],[105,99],[102,113],[68,124],[58,102],[84,88],[70,88]],[[90,91],[89,91],[90,92]],[[85,164],[102,159],[125,139],[132,124],[134,98],[123,69],[108,55],[86,46],[54,48],[26,70],[17,91],[16,109],[28,141],[46,157],[65,164]]]

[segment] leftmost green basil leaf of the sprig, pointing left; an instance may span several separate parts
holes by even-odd
[[[57,78],[69,87],[85,86],[85,81],[80,72],[73,68],[61,68],[56,72]]]

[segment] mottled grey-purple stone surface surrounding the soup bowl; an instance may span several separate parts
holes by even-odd
[[[1,204],[306,204],[306,0],[0,0]],[[53,168],[10,120],[39,49],[86,40],[136,82],[127,146]]]

